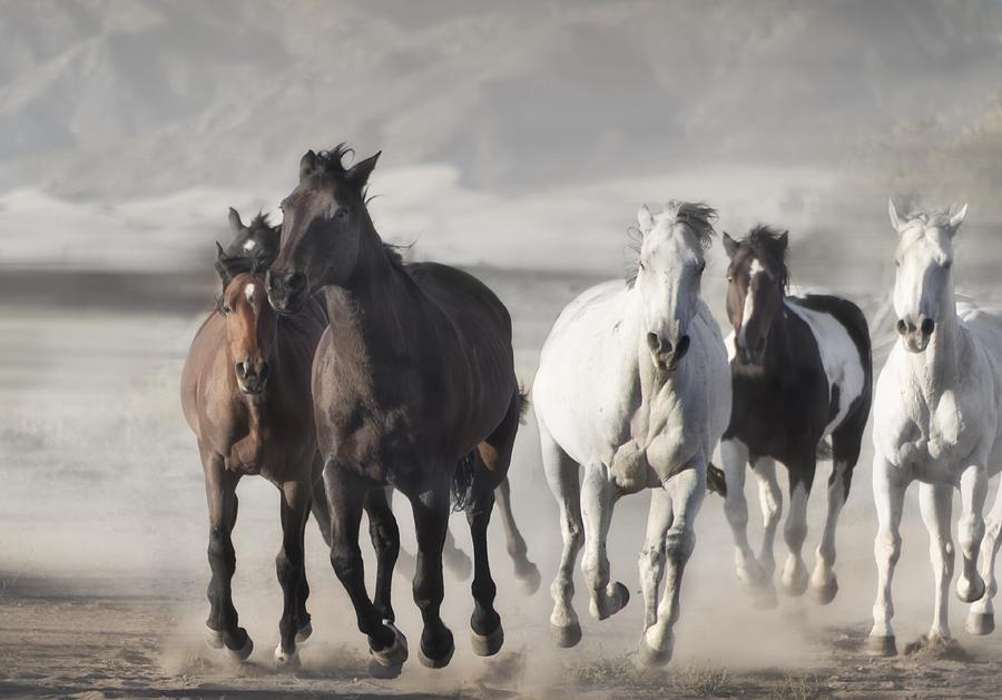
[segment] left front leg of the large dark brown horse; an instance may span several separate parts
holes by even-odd
[[[370,672],[381,678],[399,676],[407,660],[407,640],[392,622],[384,623],[370,600],[358,549],[362,504],[370,486],[350,479],[330,462],[324,467],[324,486],[331,503],[331,564],[352,600],[358,631],[369,637]]]

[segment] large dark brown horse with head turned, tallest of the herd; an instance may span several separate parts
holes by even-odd
[[[395,676],[407,658],[406,638],[394,625],[389,579],[377,583],[374,601],[365,588],[363,500],[392,485],[411,502],[413,593],[424,623],[419,658],[431,668],[446,666],[455,649],[440,617],[442,546],[450,501],[465,509],[473,539],[473,651],[497,653],[504,633],[493,607],[487,530],[525,397],[504,305],[464,272],[404,265],[384,246],[364,195],[380,154],[346,168],[348,150],[342,144],[303,156],[299,183],[282,203],[282,244],[267,289],[282,313],[295,313],[318,289],[326,294],[330,326],[314,361],[313,401],[331,562],[369,637],[370,671]]]

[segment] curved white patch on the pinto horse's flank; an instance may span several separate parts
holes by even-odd
[[[859,348],[845,326],[831,314],[798,306],[796,299],[786,299],[786,308],[806,323],[814,334],[828,377],[828,396],[832,395],[832,387],[838,387],[838,412],[825,427],[824,434],[828,435],[845,420],[849,406],[863,393],[865,372]]]

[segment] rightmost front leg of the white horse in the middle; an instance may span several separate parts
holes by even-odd
[[[640,638],[640,660],[646,666],[668,663],[675,650],[674,629],[679,617],[681,579],[696,546],[696,514],[706,494],[705,481],[705,467],[687,469],[669,481],[675,517],[665,538],[667,576],[657,622]]]

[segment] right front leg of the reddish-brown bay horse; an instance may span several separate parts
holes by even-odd
[[[278,622],[279,642],[275,663],[281,667],[299,666],[296,641],[310,635],[306,611],[306,566],[303,535],[310,516],[313,489],[308,482],[288,481],[282,484],[282,549],[275,558],[275,571],[282,585],[283,610]],[[301,612],[306,617],[301,618]]]

